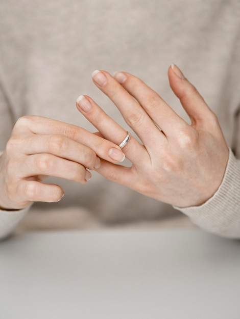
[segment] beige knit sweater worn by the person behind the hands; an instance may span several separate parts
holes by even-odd
[[[2,2],[0,150],[17,118],[26,114],[93,131],[76,110],[80,94],[92,96],[127,127],[92,84],[94,69],[135,74],[187,119],[167,80],[167,68],[174,62],[218,115],[229,147],[240,158],[239,16],[240,2],[235,0]],[[218,192],[200,207],[182,209],[185,215],[97,173],[85,185],[55,182],[65,191],[61,202],[34,204],[27,215],[29,209],[0,211],[0,236],[16,225],[16,230],[27,231],[194,223],[240,237],[240,162],[232,152]]]

